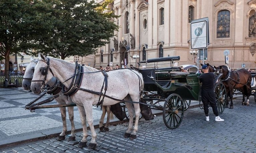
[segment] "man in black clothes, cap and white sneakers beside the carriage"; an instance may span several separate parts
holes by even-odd
[[[213,113],[215,114],[215,121],[224,121],[224,119],[221,119],[219,116],[218,108],[217,108],[217,102],[215,93],[213,90],[214,86],[214,74],[212,72],[209,72],[209,68],[207,65],[202,66],[202,71],[204,74],[201,74],[199,79],[200,83],[202,83],[202,102],[204,104],[204,111],[206,116],[206,121],[209,121],[209,107],[208,104],[210,103],[211,107],[213,108]]]

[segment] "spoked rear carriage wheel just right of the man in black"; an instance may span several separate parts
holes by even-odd
[[[227,92],[222,82],[215,83],[214,89],[215,89],[214,91],[215,91],[215,97],[217,101],[218,112],[219,114],[221,114],[224,111],[226,102],[228,100]]]

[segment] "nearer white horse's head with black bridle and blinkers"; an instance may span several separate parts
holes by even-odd
[[[43,56],[41,53],[38,54],[38,57],[41,59],[34,67],[34,75],[31,80],[31,90],[36,94],[40,94],[44,85],[53,77],[53,73],[49,67],[49,58]],[[48,71],[51,73],[48,73]]]

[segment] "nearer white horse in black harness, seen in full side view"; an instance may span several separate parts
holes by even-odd
[[[51,57],[46,58],[41,53],[39,53],[39,57],[42,58],[42,60],[39,60],[35,66],[35,75],[33,76],[31,82],[31,90],[34,93],[39,94],[40,88],[43,84],[42,82],[47,83],[53,77],[53,75],[57,77],[66,87],[69,86],[71,88],[78,89],[71,96],[71,99],[77,104],[80,116],[84,116],[86,114],[86,118],[92,133],[92,139],[88,146],[89,149],[95,148],[97,144],[96,132],[93,126],[92,105],[97,104],[98,101],[103,97],[103,105],[116,104],[121,101],[120,99],[135,102],[133,105],[131,102],[125,102],[130,118],[129,126],[124,134],[124,137],[130,137],[130,139],[136,138],[140,114],[140,106],[137,102],[139,102],[144,85],[142,75],[139,72],[130,69],[109,71],[107,72],[108,77],[106,83],[106,79],[104,79],[106,75],[104,77],[102,72],[92,73],[91,71],[85,69],[82,83],[79,86],[74,84],[71,79],[72,77],[79,75],[78,71],[75,72],[77,69],[73,63]],[[101,90],[101,86],[104,86],[105,88]],[[134,113],[135,124],[133,129]],[[86,123],[84,118],[81,118],[81,121],[82,123]],[[83,138],[79,143],[79,147],[86,146],[87,137],[87,128],[83,128]]]

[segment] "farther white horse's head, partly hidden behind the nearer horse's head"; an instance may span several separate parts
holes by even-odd
[[[29,64],[26,67],[26,71],[22,80],[22,87],[24,90],[30,90],[31,80],[33,78],[33,70],[38,62],[38,59],[31,59]]]

